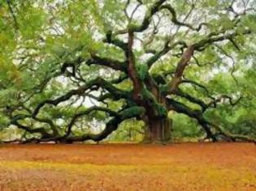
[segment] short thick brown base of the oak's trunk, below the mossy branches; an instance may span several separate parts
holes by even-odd
[[[149,119],[145,129],[143,142],[165,143],[171,141],[172,121],[171,119]]]

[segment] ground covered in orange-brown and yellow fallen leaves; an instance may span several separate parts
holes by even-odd
[[[256,146],[0,145],[0,190],[256,190]]]

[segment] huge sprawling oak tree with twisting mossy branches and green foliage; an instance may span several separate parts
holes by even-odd
[[[137,118],[147,126],[145,142],[166,142],[178,112],[213,141],[253,140],[255,130],[233,131],[225,117],[254,108],[254,7],[251,0],[1,1],[2,127],[23,129],[26,142],[98,142]],[[93,119],[106,123],[99,134],[83,125]]]

